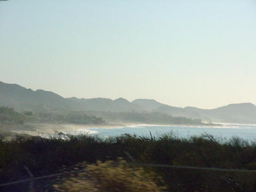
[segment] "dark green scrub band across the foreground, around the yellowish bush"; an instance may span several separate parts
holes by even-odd
[[[138,163],[256,169],[256,143],[249,143],[239,138],[225,141],[209,134],[188,139],[177,138],[172,134],[159,135],[158,138],[143,138],[125,134],[120,137],[101,139],[88,135],[57,134],[50,139],[19,137],[8,142],[1,140],[0,180],[1,183],[5,183],[29,178],[23,167],[25,165],[37,177],[61,172],[63,165],[68,170],[72,170],[77,163],[88,162],[92,164],[98,160],[107,162],[106,164],[98,164],[99,167],[106,165],[106,170],[104,170],[105,168],[98,170],[96,165],[92,166],[95,174],[100,171],[102,179],[113,178],[114,175],[116,178],[126,177],[120,175],[120,171],[115,171],[114,168],[113,172],[110,173],[107,166],[109,165],[108,161],[118,161],[118,157],[130,161],[125,155],[125,151],[131,154],[135,162]],[[133,166],[132,169],[137,170],[137,167]],[[142,169],[140,170],[142,171]],[[256,190],[256,175],[254,173],[169,169],[165,167],[143,167],[143,171],[149,175],[153,172],[162,177],[167,185],[167,191]],[[129,171],[126,173],[130,174]],[[91,181],[98,182],[94,172],[91,174]],[[70,176],[68,175],[66,179],[71,179]],[[77,177],[77,181],[82,178],[83,175]],[[65,178],[62,179],[65,180]],[[129,180],[129,177],[126,179]],[[160,182],[157,179],[154,181]],[[58,188],[54,185],[59,184],[58,180],[52,178],[35,181],[36,191],[45,191],[46,189],[49,192],[55,191]],[[73,186],[72,183],[70,183],[71,186]],[[27,189],[28,183],[25,182],[2,187],[1,190],[27,191]]]

